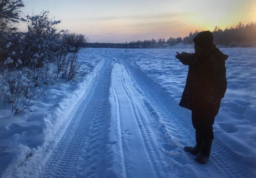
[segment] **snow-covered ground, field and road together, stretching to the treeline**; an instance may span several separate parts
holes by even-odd
[[[86,48],[79,78],[48,87],[33,112],[1,107],[1,176],[256,177],[256,48],[220,50],[228,88],[207,164],[183,151],[195,132],[175,55],[193,49]]]

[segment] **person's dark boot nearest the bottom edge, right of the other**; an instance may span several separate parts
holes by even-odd
[[[199,164],[207,163],[210,157],[211,147],[212,147],[212,140],[203,139],[201,148],[195,158],[195,161]]]

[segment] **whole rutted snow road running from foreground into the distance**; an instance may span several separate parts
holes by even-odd
[[[253,177],[219,138],[206,165],[183,151],[195,144],[190,112],[141,69],[107,49],[103,65],[28,177]],[[43,150],[42,150],[43,151]],[[42,155],[42,154],[39,154]],[[31,158],[34,159],[34,158]],[[35,159],[36,160],[36,159]],[[37,158],[37,160],[40,160]],[[20,169],[25,170],[26,167]]]

